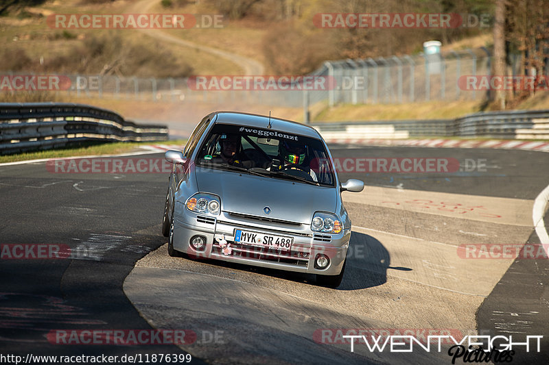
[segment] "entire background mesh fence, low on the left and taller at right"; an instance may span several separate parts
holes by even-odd
[[[365,60],[327,61],[312,76],[333,79],[333,87],[309,90],[196,90],[187,78],[139,78],[111,75],[67,75],[75,97],[132,99],[170,103],[247,103],[305,108],[329,105],[414,103],[430,100],[485,99],[486,92],[464,90],[460,77],[490,75],[491,57],[484,47],[445,54],[404,55]],[[511,58],[516,73],[520,58]],[[9,75],[9,73],[8,73]],[[229,75],[228,75],[229,76]],[[232,76],[229,76],[232,77]]]

